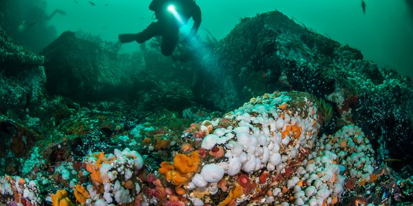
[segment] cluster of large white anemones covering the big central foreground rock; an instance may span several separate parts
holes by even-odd
[[[282,172],[286,161],[295,159],[301,147],[310,147],[308,140],[315,139],[319,129],[315,104],[305,97],[299,101],[304,104],[293,108],[287,93],[266,94],[225,115],[223,119],[234,122],[227,128],[218,128],[222,119],[209,122],[215,130],[204,137],[201,147],[211,150],[221,145],[226,153],[219,163],[205,164],[187,190],[203,187],[215,194],[216,184],[225,174]]]

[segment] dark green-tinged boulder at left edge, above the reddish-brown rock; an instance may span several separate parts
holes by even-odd
[[[0,27],[0,112],[21,113],[40,104],[45,81],[43,56],[14,44]]]

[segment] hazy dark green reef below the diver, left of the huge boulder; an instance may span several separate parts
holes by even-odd
[[[190,68],[152,50],[118,56],[120,44],[86,34],[64,32],[41,51],[50,95],[76,101],[122,100],[138,108],[182,111],[193,100]],[[172,81],[171,81],[172,80]]]

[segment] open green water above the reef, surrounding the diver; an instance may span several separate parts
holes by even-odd
[[[47,22],[56,27],[56,34],[83,30],[106,41],[117,41],[118,34],[140,32],[153,21],[149,0],[92,0],[95,5],[85,0],[6,1],[20,3],[21,15],[33,3],[44,8],[46,14],[56,8],[65,10],[66,16],[56,15]],[[205,28],[220,39],[240,18],[276,9],[320,34],[360,49],[366,59],[379,66],[392,67],[413,78],[413,15],[406,2],[410,0],[365,1],[366,14],[361,0],[198,0],[203,20],[200,34]],[[123,45],[125,52],[137,48],[137,44]]]

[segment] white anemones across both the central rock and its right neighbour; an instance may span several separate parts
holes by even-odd
[[[185,185],[193,205],[208,201],[199,196],[199,191],[217,194],[222,179],[226,186],[234,188],[241,174],[247,174],[260,190],[268,191],[260,196],[263,205],[335,204],[346,190],[348,179],[359,179],[360,185],[369,180],[373,150],[361,129],[344,126],[335,135],[317,137],[315,104],[302,93],[301,98],[288,94],[253,98],[224,118],[203,123],[205,128],[212,129],[201,148],[212,150],[221,146],[225,155],[206,159],[200,172]],[[223,121],[231,123],[222,127]],[[302,157],[303,154],[308,156]],[[262,181],[260,174],[265,172],[270,176]],[[277,175],[280,178],[274,181]],[[235,201],[248,201],[255,194],[242,194]]]

